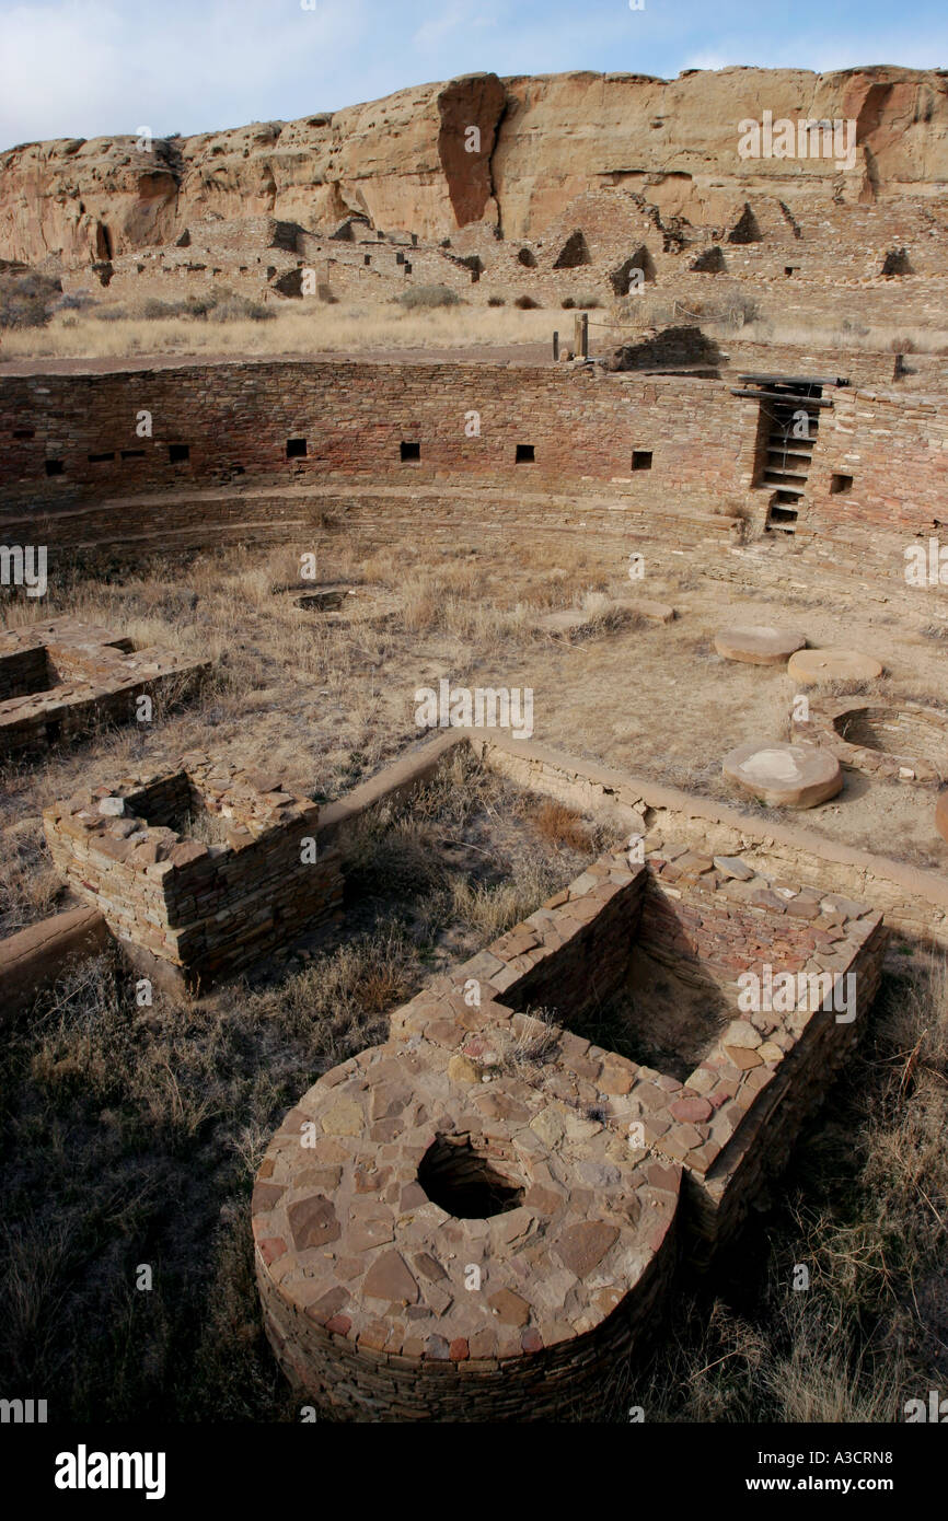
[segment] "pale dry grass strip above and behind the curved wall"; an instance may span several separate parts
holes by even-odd
[[[303,300],[274,307],[274,319],[201,322],[193,318],[53,316],[49,327],[11,330],[5,359],[126,359],[142,354],[312,354],[382,348],[470,348],[548,344],[548,312],[488,306],[405,309],[396,301]]]

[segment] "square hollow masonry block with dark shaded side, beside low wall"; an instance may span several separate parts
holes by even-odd
[[[341,913],[320,808],[274,773],[181,756],[44,809],[53,864],[142,960],[193,983],[239,970]],[[199,838],[204,837],[204,838]]]

